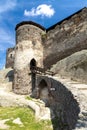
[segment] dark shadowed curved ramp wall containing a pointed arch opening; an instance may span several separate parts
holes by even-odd
[[[75,128],[80,108],[73,94],[53,78],[40,76],[37,79],[37,98],[50,108],[53,130]]]

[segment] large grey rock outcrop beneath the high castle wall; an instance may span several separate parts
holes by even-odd
[[[57,62],[51,70],[61,76],[87,83],[87,50],[79,51]]]

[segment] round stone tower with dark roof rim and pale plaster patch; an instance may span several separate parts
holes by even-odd
[[[16,26],[13,91],[17,94],[31,93],[31,66],[43,67],[42,34],[45,28],[29,22]]]

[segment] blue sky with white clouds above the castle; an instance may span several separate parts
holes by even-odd
[[[31,20],[48,28],[84,7],[87,0],[0,0],[0,69],[15,45],[16,24]]]

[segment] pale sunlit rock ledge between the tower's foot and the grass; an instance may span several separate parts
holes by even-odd
[[[0,107],[29,107],[35,112],[37,120],[50,120],[50,109],[45,107],[43,101],[31,98],[27,100],[28,95],[17,95],[12,92],[12,82],[5,78],[8,71],[9,69],[0,71]]]

